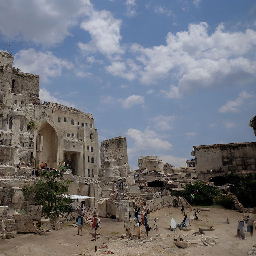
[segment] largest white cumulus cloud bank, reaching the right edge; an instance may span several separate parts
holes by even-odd
[[[208,35],[208,24],[190,24],[188,31],[168,33],[166,45],[145,48],[133,44],[131,51],[141,62],[144,84],[170,79],[170,90],[162,93],[179,98],[202,88],[216,88],[255,81],[256,31],[225,31],[220,24]]]

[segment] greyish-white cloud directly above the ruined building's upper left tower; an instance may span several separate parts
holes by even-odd
[[[14,56],[13,66],[21,67],[21,72],[39,75],[41,82],[48,82],[48,78],[61,76],[63,68],[73,68],[72,63],[57,58],[50,51],[36,52],[32,48],[17,52]]]

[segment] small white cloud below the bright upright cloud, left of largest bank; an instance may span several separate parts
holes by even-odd
[[[132,81],[138,76],[141,67],[133,60],[127,59],[126,63],[120,61],[112,62],[111,65],[105,67],[105,69],[114,76],[120,76]]]

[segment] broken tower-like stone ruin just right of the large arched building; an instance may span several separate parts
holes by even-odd
[[[105,177],[125,177],[131,173],[125,137],[115,137],[101,142],[100,166],[100,174]]]

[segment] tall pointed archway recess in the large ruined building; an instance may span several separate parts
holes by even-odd
[[[57,167],[58,137],[54,128],[45,122],[36,136],[36,167],[42,162]]]

